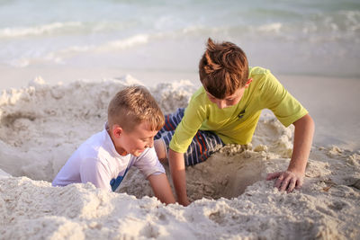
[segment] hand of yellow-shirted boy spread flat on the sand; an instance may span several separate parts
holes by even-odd
[[[292,192],[293,189],[300,189],[303,182],[302,173],[293,173],[291,171],[278,172],[278,173],[269,173],[267,174],[266,180],[277,179],[275,182],[275,187],[279,191]]]

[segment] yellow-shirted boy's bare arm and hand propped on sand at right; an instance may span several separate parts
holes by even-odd
[[[309,114],[293,122],[295,133],[293,139],[293,156],[287,171],[280,173],[269,173],[266,180],[277,178],[275,187],[280,191],[293,191],[294,188],[302,187],[306,163],[308,161],[312,137],[314,135],[314,121]]]

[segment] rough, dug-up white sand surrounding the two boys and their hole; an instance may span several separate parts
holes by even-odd
[[[223,147],[187,168],[193,203],[186,208],[151,197],[137,170],[121,183],[126,193],[90,183],[51,187],[67,157],[103,128],[112,95],[131,83],[130,76],[67,85],[39,78],[2,93],[0,239],[360,238],[360,152],[314,146],[302,190],[279,192],[264,179],[287,167],[293,128],[271,116],[262,117],[251,145]],[[185,106],[193,90],[182,82],[151,92],[167,113]]]

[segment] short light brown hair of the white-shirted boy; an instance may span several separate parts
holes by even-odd
[[[154,97],[143,86],[129,86],[112,98],[108,107],[108,125],[118,124],[132,130],[141,122],[147,122],[151,130],[159,130],[164,124],[164,114]]]

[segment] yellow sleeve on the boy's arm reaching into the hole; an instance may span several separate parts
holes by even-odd
[[[206,119],[206,108],[199,98],[192,98],[184,111],[184,117],[177,125],[169,147],[177,153],[186,152],[193,137]]]

